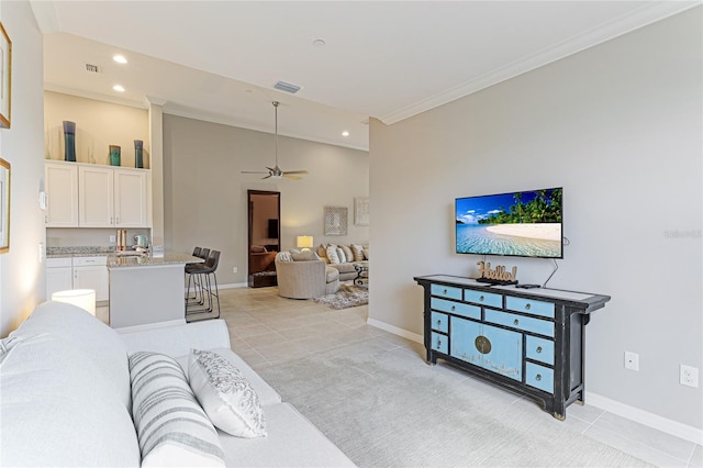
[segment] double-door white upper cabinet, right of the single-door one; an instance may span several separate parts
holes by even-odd
[[[79,226],[147,226],[146,172],[104,166],[79,166]]]

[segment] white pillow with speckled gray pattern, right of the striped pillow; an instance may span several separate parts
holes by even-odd
[[[265,437],[259,398],[239,369],[216,353],[191,349],[188,379],[198,401],[221,431],[236,437]]]

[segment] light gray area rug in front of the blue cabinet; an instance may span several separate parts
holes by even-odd
[[[382,339],[258,372],[361,467],[639,467],[532,400]]]

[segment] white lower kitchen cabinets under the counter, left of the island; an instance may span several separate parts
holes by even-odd
[[[105,256],[46,259],[46,299],[56,291],[94,289],[96,301],[110,300],[110,277]]]

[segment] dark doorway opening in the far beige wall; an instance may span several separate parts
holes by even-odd
[[[247,190],[248,283],[250,288],[276,286],[276,254],[281,249],[281,193]]]

